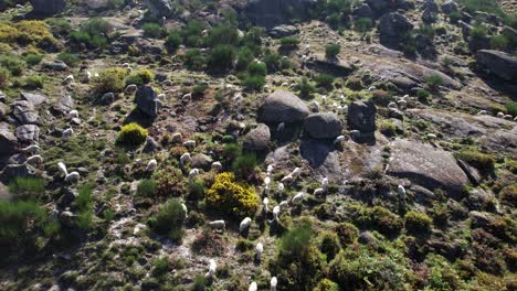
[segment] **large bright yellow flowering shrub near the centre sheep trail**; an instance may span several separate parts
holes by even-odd
[[[238,217],[252,216],[260,204],[253,187],[238,183],[232,173],[221,173],[207,192],[207,205]]]

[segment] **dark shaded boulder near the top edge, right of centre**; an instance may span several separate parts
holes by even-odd
[[[397,12],[386,13],[379,19],[379,39],[382,45],[400,48],[405,35],[413,29],[404,15]]]

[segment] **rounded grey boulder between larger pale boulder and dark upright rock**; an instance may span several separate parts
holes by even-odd
[[[315,139],[333,139],[341,134],[342,122],[331,112],[314,114],[305,118],[304,130]]]

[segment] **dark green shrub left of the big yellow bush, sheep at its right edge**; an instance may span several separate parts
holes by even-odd
[[[150,228],[159,234],[167,235],[179,242],[183,237],[182,225],[187,213],[178,200],[169,200],[158,209],[158,213],[149,219]]]

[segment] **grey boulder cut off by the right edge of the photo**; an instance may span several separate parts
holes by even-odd
[[[517,82],[517,57],[499,51],[481,50],[476,53],[476,62],[499,78]]]

